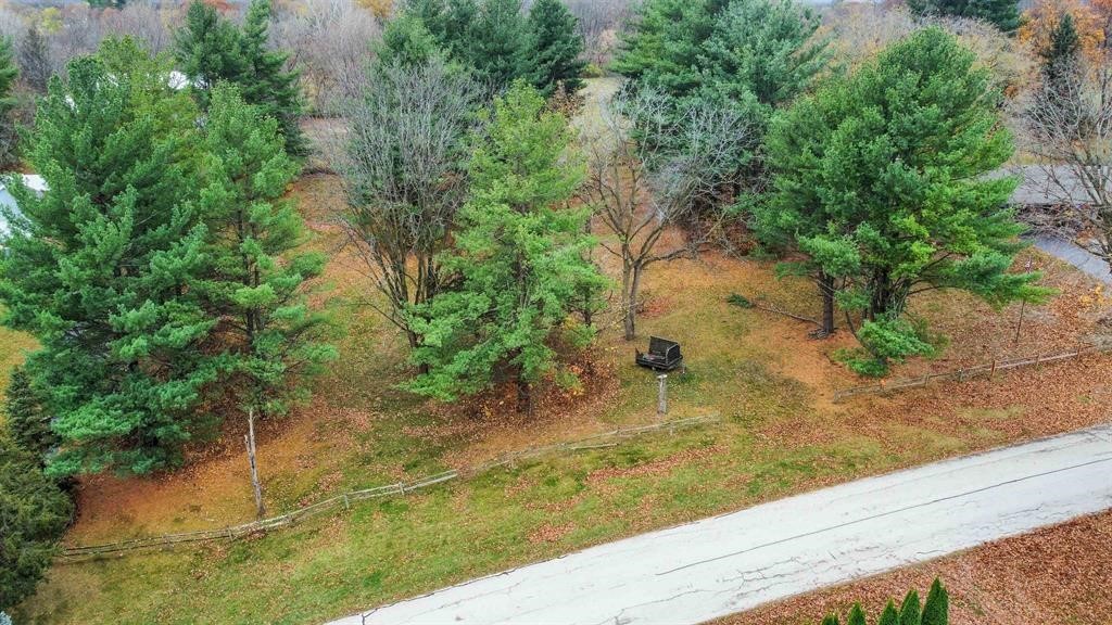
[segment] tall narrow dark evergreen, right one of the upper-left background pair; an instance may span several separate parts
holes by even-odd
[[[304,110],[298,73],[286,70],[288,52],[267,48],[269,37],[270,0],[251,0],[241,37],[244,72],[228,78],[239,85],[244,101],[278,120],[286,151],[301,157],[308,153],[308,145],[298,126]]]

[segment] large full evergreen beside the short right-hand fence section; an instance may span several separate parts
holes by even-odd
[[[956,288],[993,305],[1037,300],[1032,274],[1010,274],[1022,227],[1007,209],[1016,181],[989,179],[1012,153],[1000,95],[974,56],[941,29],[916,32],[847,80],[805,97],[767,141],[776,194],[757,207],[818,269],[847,281],[840,304],[877,374],[929,353],[902,318],[915,292]],[[852,328],[851,328],[852,329]]]

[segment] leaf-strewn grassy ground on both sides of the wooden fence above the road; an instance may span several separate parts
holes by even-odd
[[[335,180],[308,178],[298,195],[319,234],[316,245],[334,250],[338,237],[325,217],[340,201]],[[588,380],[588,393],[549,398],[532,419],[512,414],[497,395],[446,410],[397,391],[394,384],[406,375],[400,341],[360,306],[366,285],[347,260],[332,254],[322,289],[341,359],[316,385],[310,406],[262,435],[271,510],[655,418],[655,380],[632,365],[632,346],[613,318],[603,320],[593,358],[600,375]],[[1025,347],[1070,344],[1096,315],[1078,317],[1084,282],[1061,268],[1051,277],[1069,288],[1054,304],[1029,308],[1025,334],[1037,344]],[[681,340],[691,365],[674,378],[672,416],[718,413],[721,425],[532,462],[231,545],[59,565],[20,622],[319,622],[788,493],[1092,423],[1103,418],[1092,397],[1112,384],[1106,361],[1096,359],[1050,369],[1050,380],[1048,371],[1031,370],[834,405],[833,389],[854,381],[830,358],[850,345],[847,337],[807,340],[805,325],[725,304],[738,291],[807,311],[805,282],[775,280],[768,264],[712,255],[655,266],[646,289],[641,333]],[[952,295],[920,308],[955,340],[941,359],[911,364],[909,373],[1010,348],[1004,337],[1014,308],[994,312]],[[1025,396],[1030,388],[1037,396]],[[237,439],[178,475],[87,480],[69,539],[88,544],[250,518]]]

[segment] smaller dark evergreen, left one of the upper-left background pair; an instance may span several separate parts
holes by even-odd
[[[202,109],[208,108],[209,90],[217,82],[236,80],[246,71],[238,29],[201,0],[190,2],[173,44],[179,69],[189,78]]]

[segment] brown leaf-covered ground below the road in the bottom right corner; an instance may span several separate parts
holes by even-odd
[[[1112,513],[1005,538],[975,549],[836,588],[794,597],[715,625],[798,625],[854,602],[878,614],[891,597],[935,577],[950,591],[952,625],[1112,623]]]

